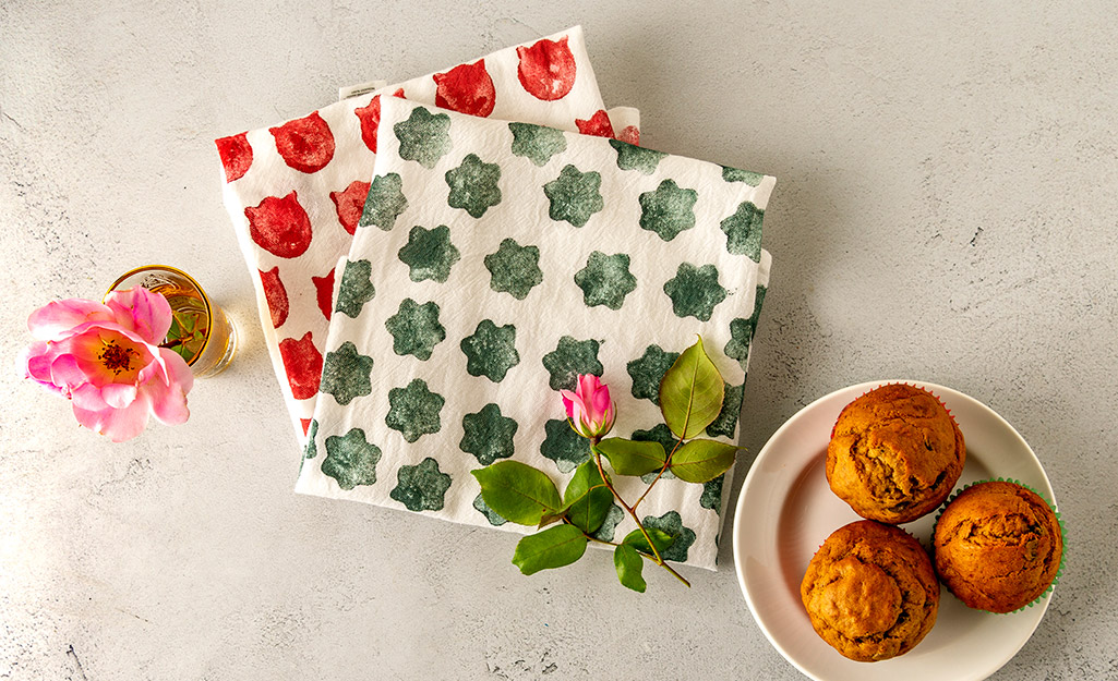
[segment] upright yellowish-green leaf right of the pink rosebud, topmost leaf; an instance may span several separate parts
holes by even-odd
[[[718,418],[726,383],[702,347],[702,337],[683,351],[660,382],[660,411],[679,438],[698,435]]]

